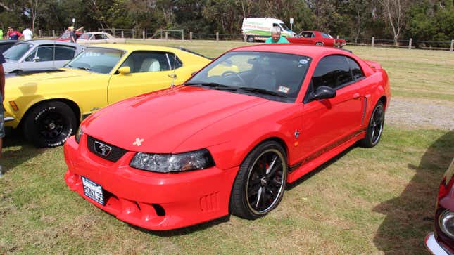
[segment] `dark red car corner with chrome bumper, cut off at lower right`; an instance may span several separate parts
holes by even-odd
[[[440,183],[436,200],[434,232],[425,243],[432,254],[454,254],[454,159]]]

